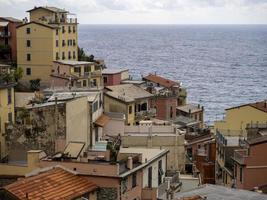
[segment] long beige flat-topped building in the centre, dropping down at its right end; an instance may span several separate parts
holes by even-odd
[[[123,147],[168,149],[167,169],[184,171],[184,135],[179,134],[175,127],[170,125],[125,126],[124,135],[121,138]]]

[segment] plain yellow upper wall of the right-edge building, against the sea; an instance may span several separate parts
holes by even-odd
[[[214,123],[215,130],[229,136],[246,136],[247,124],[267,123],[267,102],[256,102],[226,109],[222,121]]]

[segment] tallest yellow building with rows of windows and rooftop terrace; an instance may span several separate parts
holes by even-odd
[[[50,84],[54,60],[77,60],[77,18],[55,7],[28,11],[30,22],[17,27],[17,63],[24,71],[22,83],[41,79]]]

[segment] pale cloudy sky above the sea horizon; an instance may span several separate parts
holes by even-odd
[[[80,24],[267,24],[267,0],[0,0],[0,16],[34,6],[65,8]]]

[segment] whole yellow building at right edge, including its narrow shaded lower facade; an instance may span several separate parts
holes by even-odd
[[[216,121],[216,184],[232,187],[234,182],[234,150],[247,137],[249,124],[267,123],[267,102],[256,102],[226,109],[222,121]]]

